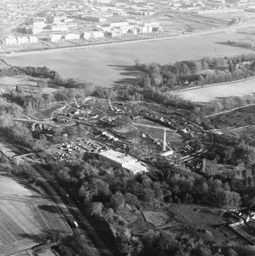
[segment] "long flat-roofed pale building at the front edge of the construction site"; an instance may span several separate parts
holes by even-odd
[[[147,172],[147,167],[137,162],[137,159],[118,151],[108,150],[98,154],[98,160],[108,162],[112,167],[129,170],[134,174]]]

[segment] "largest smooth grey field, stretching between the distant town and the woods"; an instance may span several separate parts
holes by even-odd
[[[165,64],[180,60],[198,60],[202,57],[225,57],[253,50],[231,47],[224,43],[244,37],[233,32],[173,37],[162,41],[140,41],[128,44],[111,44],[76,50],[17,53],[6,56],[14,66],[48,66],[67,77],[84,79],[95,85],[111,87],[140,76],[134,69],[134,60]],[[132,67],[133,66],[133,67]],[[98,76],[100,74],[100,76]]]

